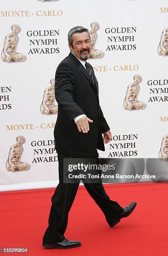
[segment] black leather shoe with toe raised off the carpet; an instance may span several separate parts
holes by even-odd
[[[109,226],[114,227],[115,225],[117,225],[120,222],[120,219],[128,217],[131,214],[131,212],[133,212],[136,205],[137,205],[136,202],[132,202],[132,203],[130,203],[130,205],[123,208],[124,211],[123,211],[123,213],[121,213],[121,215],[119,215],[118,217],[108,221]]]

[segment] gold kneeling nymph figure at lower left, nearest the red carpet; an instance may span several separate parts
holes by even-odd
[[[25,137],[17,136],[16,141],[17,143],[10,148],[8,160],[6,162],[6,169],[7,171],[12,172],[28,170],[30,168],[30,164],[20,161],[23,152],[22,144],[25,142]]]

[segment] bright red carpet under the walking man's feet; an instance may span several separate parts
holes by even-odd
[[[137,202],[135,211],[114,228],[108,226],[101,210],[85,188],[80,187],[65,236],[80,240],[82,246],[67,250],[41,246],[54,190],[0,193],[0,248],[28,247],[31,256],[168,255],[168,184],[105,185],[110,198],[121,206]]]

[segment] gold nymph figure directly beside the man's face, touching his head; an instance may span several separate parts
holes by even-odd
[[[91,52],[89,58],[100,58],[103,57],[104,52],[98,49],[95,49],[95,41],[97,38],[96,30],[100,28],[98,22],[92,22],[90,24],[91,30],[89,31],[90,40],[91,40]]]

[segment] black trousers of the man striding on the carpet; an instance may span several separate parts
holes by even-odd
[[[68,213],[75,199],[79,183],[63,183],[63,159],[70,156],[58,152],[59,163],[59,184],[51,198],[52,206],[50,210],[48,228],[43,236],[43,242],[54,243],[64,240],[64,233],[68,223]],[[95,154],[98,158],[98,153]],[[97,159],[98,162],[98,159]],[[123,212],[120,205],[110,200],[105,193],[102,183],[84,183],[90,196],[103,211],[106,220],[111,220]]]

